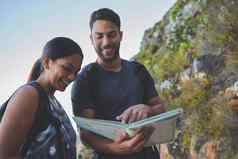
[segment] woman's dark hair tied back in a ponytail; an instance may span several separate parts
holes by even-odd
[[[80,55],[83,59],[83,53],[80,46],[70,38],[67,37],[55,37],[48,41],[43,48],[43,53],[40,59],[36,60],[32,70],[30,72],[28,82],[36,80],[41,72],[43,72],[42,59],[49,58],[51,60],[56,60],[71,56],[74,54]]]

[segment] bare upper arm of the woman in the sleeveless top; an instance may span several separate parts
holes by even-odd
[[[0,158],[20,158],[20,146],[31,129],[39,106],[37,90],[31,86],[20,88],[8,102],[0,124]]]

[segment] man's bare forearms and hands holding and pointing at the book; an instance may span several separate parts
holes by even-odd
[[[159,96],[153,97],[149,100],[148,104],[138,104],[125,110],[119,117],[123,122],[140,120],[147,116],[153,116],[159,113],[165,112],[165,105],[159,98]],[[95,112],[87,109],[84,112],[86,117],[93,118]],[[119,118],[118,117],[118,118]],[[98,135],[95,135],[86,130],[81,131],[81,138],[83,141],[89,143],[95,150],[108,154],[131,154],[139,152],[143,149],[150,133],[141,129],[133,138],[129,139],[126,132],[119,132],[117,138],[112,141]]]

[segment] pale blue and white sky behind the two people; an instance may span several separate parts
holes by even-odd
[[[0,103],[26,82],[45,43],[66,36],[84,53],[83,65],[94,62],[96,53],[89,35],[90,14],[111,8],[121,17],[123,39],[120,55],[130,59],[139,52],[144,31],[162,19],[176,0],[1,0],[0,2]],[[56,97],[71,114],[71,85]]]

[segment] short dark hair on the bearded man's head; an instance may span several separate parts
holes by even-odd
[[[90,22],[89,22],[91,30],[92,30],[93,24],[96,20],[108,20],[108,21],[116,24],[116,26],[118,26],[119,30],[121,28],[121,20],[120,20],[119,15],[109,8],[101,8],[101,9],[94,11],[91,14]]]

